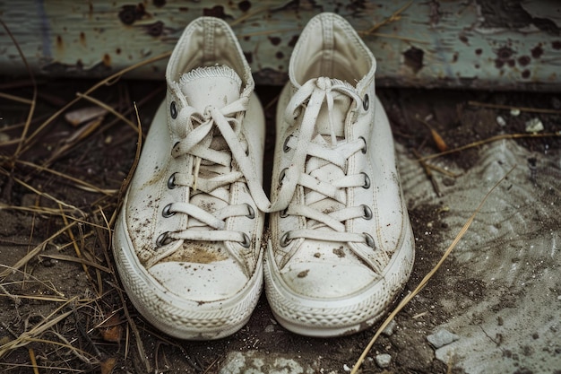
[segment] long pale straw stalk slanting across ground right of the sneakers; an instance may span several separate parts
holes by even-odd
[[[350,371],[350,374],[357,374],[358,369],[362,365],[362,362],[367,357],[368,352],[370,352],[370,350],[372,349],[372,346],[375,344],[375,341],[378,338],[378,336],[380,336],[380,334],[382,334],[382,331],[384,330],[384,328],[386,326],[388,326],[390,324],[390,322],[392,322],[393,318],[401,311],[401,309],[403,309],[410,302],[410,300],[413,300],[413,298],[423,288],[425,288],[428,281],[433,277],[434,274],[436,274],[436,271],[440,268],[441,265],[444,264],[445,259],[452,253],[453,248],[456,248],[456,246],[458,245],[458,242],[460,242],[460,240],[463,238],[463,236],[468,231],[468,229],[470,229],[471,223],[475,220],[475,217],[479,213],[479,211],[481,210],[481,207],[487,201],[488,196],[490,196],[491,193],[496,189],[496,187],[498,187],[498,185],[501,182],[503,182],[503,180],[505,180],[506,177],[508,177],[508,175],[514,170],[514,168],[516,168],[516,165],[514,165],[514,167],[511,170],[508,170],[506,172],[505,176],[503,176],[503,178],[500,178],[496,182],[496,184],[493,187],[491,187],[491,189],[488,191],[488,193],[485,196],[483,196],[483,199],[479,202],[479,205],[477,206],[475,211],[473,213],[471,213],[470,218],[468,219],[467,222],[464,223],[464,225],[462,227],[462,230],[460,230],[458,235],[456,235],[456,237],[453,239],[452,244],[450,244],[450,246],[444,251],[444,255],[440,258],[440,260],[435,265],[435,267],[433,267],[432,270],[430,272],[428,272],[427,275],[425,275],[425,277],[422,279],[422,281],[419,283],[419,285],[415,288],[415,290],[410,292],[410,294],[408,294],[405,298],[403,298],[403,300],[401,300],[401,302],[398,304],[398,306],[395,309],[393,309],[393,312],[390,313],[390,315],[384,320],[384,323],[382,324],[382,326],[378,327],[378,330],[376,331],[374,337],[372,338],[372,340],[370,340],[370,343],[367,344],[367,347],[365,348],[365,350],[362,352],[362,354],[358,358],[358,361],[355,363],[355,366]]]

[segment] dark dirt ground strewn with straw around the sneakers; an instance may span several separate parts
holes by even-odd
[[[185,342],[162,335],[136,312],[121,290],[108,230],[115,218],[119,188],[134,161],[137,143],[134,128],[112,114],[82,126],[71,126],[61,115],[45,128],[39,128],[56,110],[73,100],[76,92],[84,92],[95,83],[39,82],[37,107],[29,128],[22,124],[28,117],[30,103],[0,99],[0,370],[9,373],[218,373],[232,357],[241,353],[245,357],[292,359],[301,369],[287,364],[275,372],[350,371],[377,326],[357,335],[331,339],[294,335],[274,321],[263,295],[253,317],[237,334],[215,342]],[[142,130],[146,133],[164,90],[163,83],[122,80],[92,92],[91,96],[107,103],[134,124],[133,102],[136,102]],[[33,93],[29,81],[9,79],[0,81],[0,91],[28,99]],[[266,108],[269,164],[274,138],[272,118],[279,91],[278,87],[257,88]],[[536,212],[538,201],[551,205],[550,211],[535,213],[536,219],[545,216],[547,224],[540,226],[532,238],[539,239],[549,232],[558,237],[561,226],[558,214],[561,204],[558,183],[561,180],[561,94],[392,88],[379,88],[378,94],[392,121],[400,166],[404,170],[402,183],[416,236],[416,262],[402,295],[413,290],[436,265],[475,209],[462,195],[453,195],[454,188],[463,183],[462,176],[485,161],[482,150],[496,142],[505,142],[497,140],[427,161],[441,168],[431,169],[434,178],[431,183],[423,166],[416,161],[421,156],[439,152],[437,146],[443,145],[431,135],[430,128],[449,149],[498,135],[523,135],[509,140],[515,150],[521,150],[516,152],[530,154],[517,166],[516,180],[524,186],[537,186],[536,191],[541,191],[534,196]],[[65,113],[89,106],[95,105],[82,99]],[[516,115],[515,111],[496,106],[548,109],[550,112],[522,111]],[[528,137],[526,126],[531,118],[539,118],[544,130],[537,134],[543,136]],[[25,142],[20,143],[18,139],[23,133]],[[265,166],[265,170],[271,168]],[[417,180],[410,177],[412,175],[423,182],[412,183]],[[497,173],[497,176],[501,178],[502,174]],[[266,171],[265,178],[270,179]],[[505,183],[499,196],[506,194],[513,180],[514,177]],[[492,183],[482,178],[479,187],[472,189],[480,199],[490,186]],[[446,199],[446,195],[453,196],[453,201]],[[489,214],[503,208],[493,202],[489,204],[486,205]],[[532,205],[532,201],[523,202],[529,212]],[[505,217],[501,218],[502,222],[493,222],[495,219],[478,221],[476,218],[474,224],[493,228],[496,227],[493,225],[508,223]],[[478,230],[476,227],[476,232]],[[453,327],[454,321],[463,321],[466,310],[473,310],[477,305],[485,305],[489,313],[493,313],[496,324],[501,326],[502,318],[506,318],[501,311],[516,310],[517,300],[529,292],[552,294],[551,305],[557,311],[552,312],[548,334],[557,332],[558,336],[556,329],[561,328],[555,319],[561,309],[558,260],[541,267],[548,269],[548,274],[554,274],[554,278],[557,274],[547,288],[536,287],[524,293],[515,291],[508,283],[501,283],[498,290],[496,283],[470,265],[478,260],[470,257],[469,251],[462,250],[471,243],[494,251],[500,246],[497,241],[488,244],[486,240],[491,239],[496,240],[482,234],[479,237],[466,235],[463,242],[467,244],[459,247],[458,255],[453,252],[446,259],[427,287],[397,315],[393,331],[376,341],[360,372],[485,372],[470,370],[462,355],[439,360],[438,350],[427,341],[427,335],[434,334],[442,326],[449,326],[451,332],[458,334],[462,326]],[[474,243],[473,240],[479,241]],[[552,251],[557,251],[558,258],[555,241]],[[483,312],[469,313],[470,323],[466,325],[478,326],[479,319],[487,318]],[[531,336],[531,340],[539,342],[544,334]],[[538,354],[535,352],[538,348],[532,351],[522,344],[518,351],[503,350],[508,342],[501,341],[500,336],[488,335],[488,339],[502,350],[499,360],[509,360],[513,369],[495,372],[561,372],[555,359],[561,356],[558,337],[557,342],[555,338],[548,341],[551,354],[540,358],[541,366],[532,366],[528,360]],[[376,361],[380,353],[391,356],[387,366]]]

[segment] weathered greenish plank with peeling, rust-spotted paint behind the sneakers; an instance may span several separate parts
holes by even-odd
[[[378,61],[380,85],[559,90],[561,2],[414,1],[0,1],[36,74],[100,77],[170,51],[194,18],[214,15],[237,32],[255,80],[280,84],[300,30],[316,13],[335,12],[361,32]],[[128,76],[161,79],[166,60]],[[25,74],[0,29],[0,74]]]

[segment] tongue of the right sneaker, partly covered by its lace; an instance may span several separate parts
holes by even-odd
[[[330,79],[332,85],[344,85],[351,90],[354,90],[349,83],[342,82],[338,79]],[[319,135],[330,136],[332,135],[331,126],[333,126],[335,136],[345,136],[345,119],[350,109],[350,97],[339,91],[332,90],[333,109],[332,109],[332,125],[329,119],[329,109],[327,108],[327,101],[324,100],[322,108],[316,122],[316,130]],[[326,138],[327,140],[327,138]]]

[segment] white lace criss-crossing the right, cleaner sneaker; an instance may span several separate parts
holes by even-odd
[[[369,179],[365,173],[347,175],[347,161],[356,152],[366,150],[362,138],[347,142],[338,141],[332,117],[333,92],[350,96],[356,103],[362,100],[350,86],[337,83],[328,78],[318,78],[305,83],[292,97],[285,112],[285,120],[294,122],[295,113],[302,107],[306,109],[297,135],[290,135],[285,146],[293,149],[294,155],[289,168],[283,170],[276,206],[288,206],[281,215],[298,215],[307,219],[306,229],[291,230],[281,239],[280,245],[287,245],[292,239],[320,239],[337,242],[361,242],[374,247],[372,238],[364,233],[348,232],[345,221],[371,216],[366,205],[347,206],[346,189],[368,187]],[[323,136],[315,135],[315,126],[323,103],[327,104],[331,144]],[[307,103],[307,104],[306,104]],[[315,136],[314,136],[315,135]],[[326,178],[330,165],[338,168],[337,178]],[[332,168],[332,167],[331,167]],[[322,171],[322,169],[324,169]],[[331,180],[330,180],[331,179]],[[298,188],[304,187],[304,204],[291,203]],[[325,199],[332,199],[336,205],[344,206],[330,213],[316,209]],[[338,203],[338,204],[337,204]],[[282,209],[281,209],[282,210]],[[317,230],[329,228],[331,230]]]

